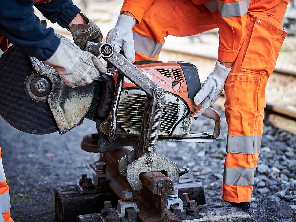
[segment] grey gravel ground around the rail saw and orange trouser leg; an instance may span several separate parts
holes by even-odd
[[[212,143],[158,143],[157,152],[189,167],[189,176],[204,188],[207,203],[221,201],[227,124],[222,124],[220,141]],[[213,129],[213,120],[199,117],[193,132]],[[95,123],[84,120],[70,132],[59,135],[30,135],[0,119],[2,160],[10,187],[14,221],[54,221],[55,186],[76,183],[81,173],[92,170],[89,162],[98,154],[80,148],[84,135],[95,131]],[[296,136],[265,124],[261,154],[256,170],[251,207],[257,221],[296,221]]]

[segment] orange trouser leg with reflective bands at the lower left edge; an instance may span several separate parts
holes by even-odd
[[[1,158],[1,148],[0,148],[0,222],[13,222],[10,217],[10,198],[9,198],[9,187],[6,183],[6,178],[4,174],[2,158]]]

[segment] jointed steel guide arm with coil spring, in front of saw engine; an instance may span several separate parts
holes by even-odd
[[[155,152],[161,116],[165,102],[165,90],[154,83],[148,76],[146,76],[130,61],[128,61],[123,55],[114,50],[109,43],[87,42],[84,50],[91,52],[96,56],[101,56],[105,61],[116,68],[118,72],[131,80],[132,83],[134,83],[147,94],[139,145],[135,156],[136,158],[139,158],[144,155],[148,147],[152,147]],[[112,110],[113,119],[111,119],[111,121],[113,121],[113,128],[115,127],[115,129],[117,122],[116,113],[118,102],[119,99],[117,97],[116,102],[113,102],[113,105],[116,107],[116,109]],[[111,139],[111,137],[109,139]],[[114,137],[112,139],[114,139]]]

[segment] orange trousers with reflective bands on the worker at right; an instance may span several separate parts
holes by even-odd
[[[248,12],[246,38],[224,87],[228,137],[222,199],[226,201],[250,202],[263,131],[265,87],[286,36],[281,24],[287,4],[283,0],[271,9]],[[216,27],[204,5],[155,0],[133,28],[135,60],[157,60],[165,36],[196,35]]]

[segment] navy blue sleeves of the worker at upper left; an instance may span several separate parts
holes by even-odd
[[[60,39],[52,28],[44,29],[33,14],[33,0],[1,0],[0,33],[25,54],[44,61],[57,50]],[[52,23],[67,28],[80,9],[70,0],[35,5]]]

